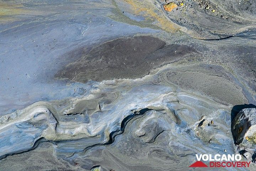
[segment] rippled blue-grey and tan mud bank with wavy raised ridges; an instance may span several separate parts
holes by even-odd
[[[187,170],[195,154],[238,153],[232,100],[223,93],[233,93],[233,103],[247,100],[232,77],[216,65],[166,65],[142,79],[102,81],[80,98],[36,102],[1,117],[2,167],[14,154],[46,153],[46,142],[71,170],[182,170],[181,163]],[[200,80],[201,91],[185,79]]]

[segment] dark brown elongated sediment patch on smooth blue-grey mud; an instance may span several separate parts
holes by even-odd
[[[78,82],[141,78],[151,69],[196,52],[185,45],[165,45],[164,41],[151,36],[114,39],[82,54],[80,59],[59,70],[55,78]]]

